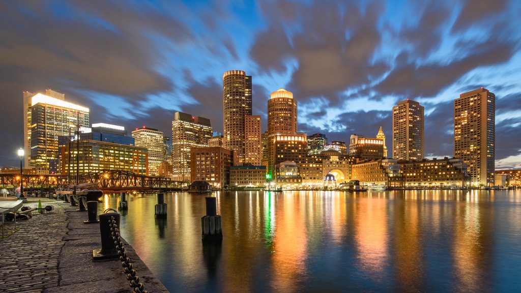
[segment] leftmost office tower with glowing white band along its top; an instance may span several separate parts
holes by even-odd
[[[89,108],[66,102],[58,92],[45,93],[23,93],[26,166],[41,174],[49,172],[49,163],[59,160],[58,137],[89,127]]]

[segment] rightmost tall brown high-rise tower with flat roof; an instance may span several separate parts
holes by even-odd
[[[494,185],[495,94],[477,89],[454,100],[454,156],[474,185]]]

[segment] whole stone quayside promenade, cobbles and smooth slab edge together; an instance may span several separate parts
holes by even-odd
[[[118,259],[92,261],[101,248],[100,225],[70,203],[29,198],[24,206],[52,205],[29,220],[5,222],[0,238],[0,292],[132,292]],[[2,201],[0,201],[1,203]],[[168,292],[125,240],[134,270],[148,292]]]

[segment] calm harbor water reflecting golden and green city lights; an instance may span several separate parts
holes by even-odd
[[[156,219],[156,194],[127,194],[121,235],[170,292],[521,291],[519,190],[213,196],[224,239],[207,246],[204,195],[166,193]]]

